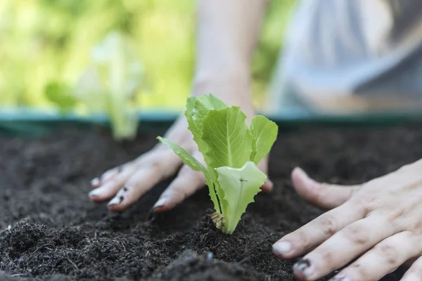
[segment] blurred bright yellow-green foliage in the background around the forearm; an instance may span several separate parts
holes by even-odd
[[[258,104],[294,3],[271,1],[252,68]],[[180,110],[193,76],[195,5],[193,0],[0,1],[0,105],[79,106],[70,89],[89,67],[92,48],[117,31],[136,46],[148,85],[134,97],[136,105]]]

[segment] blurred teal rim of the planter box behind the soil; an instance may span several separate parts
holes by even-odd
[[[165,109],[142,110],[139,113],[139,131],[153,131],[168,128],[181,112]],[[420,112],[373,112],[346,115],[315,114],[305,110],[283,110],[276,113],[259,113],[276,122],[279,131],[299,131],[309,127],[370,127],[397,126],[400,124],[421,123]],[[2,110],[0,107],[0,135],[17,137],[37,137],[51,133],[63,126],[110,128],[108,115],[97,113],[89,116],[75,114],[60,115],[53,110],[17,107]]]

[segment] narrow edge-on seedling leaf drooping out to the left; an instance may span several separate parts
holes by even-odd
[[[161,143],[164,143],[169,148],[171,148],[180,157],[181,161],[183,161],[184,164],[190,166],[191,169],[193,169],[194,171],[203,172],[208,188],[210,188],[210,197],[211,197],[212,202],[214,203],[214,207],[216,210],[221,212],[221,208],[219,207],[219,200],[217,200],[217,197],[215,195],[215,190],[214,190],[215,180],[213,180],[214,177],[210,175],[210,173],[205,168],[205,166],[203,166],[203,164],[200,164],[198,159],[193,157],[191,154],[189,154],[186,150],[181,148],[176,143],[173,143],[172,141],[169,141],[167,138],[162,138],[160,136],[158,136],[157,139]]]

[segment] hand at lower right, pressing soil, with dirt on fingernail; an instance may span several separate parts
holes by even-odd
[[[411,263],[402,281],[422,280],[422,160],[362,185],[317,183],[299,168],[295,189],[331,209],[273,245],[282,259],[305,254],[293,266],[300,280],[380,280]]]

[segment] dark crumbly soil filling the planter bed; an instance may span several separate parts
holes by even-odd
[[[158,134],[129,143],[82,129],[0,137],[0,280],[295,280],[294,261],[271,244],[321,211],[293,191],[293,167],[362,183],[422,157],[422,126],[281,135],[270,160],[276,188],[256,197],[231,236],[212,225],[205,188],[165,214],[151,207],[168,182],[122,214],[91,203],[91,178],[152,148]]]

